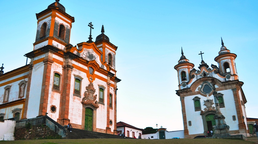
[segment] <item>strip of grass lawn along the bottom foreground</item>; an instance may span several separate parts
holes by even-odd
[[[235,139],[211,139],[211,138],[198,138],[198,139],[114,139],[114,138],[100,138],[100,139],[40,139],[40,140],[18,140],[18,141],[0,141],[0,143],[7,144],[134,144],[134,143],[148,143],[148,144],[258,144],[257,137],[248,138],[247,141]]]

